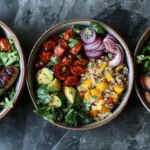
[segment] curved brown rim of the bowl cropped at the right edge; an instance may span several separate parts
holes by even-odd
[[[140,37],[139,41],[138,41],[138,44],[136,45],[136,48],[135,48],[135,52],[134,52],[134,72],[135,72],[135,82],[134,82],[134,85],[135,85],[135,90],[136,90],[136,93],[141,101],[141,103],[144,105],[144,107],[150,112],[150,105],[148,104],[148,102],[146,102],[145,98],[143,97],[143,94],[142,94],[142,91],[140,91],[140,87],[139,87],[139,83],[138,83],[138,79],[137,79],[137,71],[136,71],[136,68],[137,68],[137,63],[136,63],[136,57],[138,55],[139,52],[141,52],[141,48],[145,42],[145,40],[150,37],[150,27],[148,27],[144,33],[142,34],[142,36]]]

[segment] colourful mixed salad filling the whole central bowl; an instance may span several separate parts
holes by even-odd
[[[36,69],[35,113],[69,126],[111,115],[128,85],[123,48],[95,22],[50,37]]]

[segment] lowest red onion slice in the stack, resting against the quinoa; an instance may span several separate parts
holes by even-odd
[[[88,58],[100,58],[103,55],[103,51],[85,51],[85,55]]]

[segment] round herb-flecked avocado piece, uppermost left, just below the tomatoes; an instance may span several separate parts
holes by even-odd
[[[38,84],[48,85],[53,80],[53,72],[48,68],[42,68],[37,73]]]

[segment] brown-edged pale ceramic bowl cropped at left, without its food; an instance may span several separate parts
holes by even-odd
[[[3,30],[6,38],[9,38],[10,36],[12,37],[12,39],[14,40],[14,44],[18,50],[19,56],[20,56],[20,61],[19,61],[20,73],[19,73],[19,77],[17,78],[17,81],[15,83],[16,93],[15,93],[14,98],[13,98],[13,102],[15,105],[17,100],[19,99],[19,96],[21,94],[21,91],[22,91],[24,83],[25,83],[25,70],[26,70],[25,59],[24,59],[23,51],[22,51],[22,48],[20,46],[19,40],[17,39],[17,37],[13,33],[13,31],[1,20],[0,20],[0,28],[1,28],[1,30]],[[0,111],[0,119],[5,117],[10,112],[10,110],[11,110],[11,108],[2,109]]]

